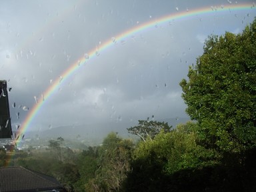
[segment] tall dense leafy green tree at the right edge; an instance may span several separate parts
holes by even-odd
[[[180,83],[207,147],[238,152],[256,145],[255,47],[256,19],[240,34],[211,36]]]

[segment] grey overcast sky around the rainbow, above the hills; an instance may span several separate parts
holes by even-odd
[[[219,11],[245,2],[253,8]],[[239,33],[251,23],[255,2],[0,1],[0,79],[12,87],[13,129],[29,113],[26,107],[36,105],[35,98],[85,53],[152,19],[208,7],[216,10],[156,23],[99,51],[63,79],[28,130],[105,122],[136,124],[152,115],[154,119],[187,117],[179,82],[187,77],[189,65],[203,53],[208,35]]]

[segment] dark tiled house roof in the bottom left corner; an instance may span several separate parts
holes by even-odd
[[[65,191],[54,177],[24,167],[0,167],[1,192]]]

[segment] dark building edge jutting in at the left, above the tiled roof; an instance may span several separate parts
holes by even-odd
[[[7,81],[0,80],[0,139],[11,138],[11,117],[9,111],[9,99]]]

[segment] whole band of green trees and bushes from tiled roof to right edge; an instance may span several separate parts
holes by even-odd
[[[11,163],[53,175],[67,191],[256,191],[255,47],[256,19],[237,35],[209,37],[180,83],[190,122],[140,120],[127,129],[139,142],[109,133],[82,153],[58,138]]]

